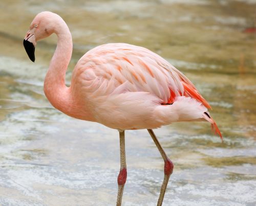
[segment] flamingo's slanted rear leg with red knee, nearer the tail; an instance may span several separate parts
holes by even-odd
[[[169,177],[173,173],[174,164],[166,156],[166,154],[165,154],[162,146],[160,145],[153,130],[147,130],[147,131],[148,131],[148,133],[150,133],[150,136],[152,137],[153,141],[155,142],[155,144],[164,160],[164,179],[163,179],[160,195],[159,195],[158,202],[157,202],[157,206],[161,206],[162,202],[163,202],[164,193],[165,193],[168,181],[169,181]]]

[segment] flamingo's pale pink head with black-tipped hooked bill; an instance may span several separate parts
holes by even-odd
[[[35,61],[36,42],[55,32],[56,24],[54,22],[56,21],[54,19],[58,17],[55,13],[45,11],[37,14],[30,24],[29,31],[23,40],[23,45],[32,62]]]

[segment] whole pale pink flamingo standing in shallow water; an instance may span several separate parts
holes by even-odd
[[[164,160],[164,179],[157,205],[174,164],[169,160],[153,129],[180,121],[208,121],[222,135],[210,117],[210,105],[189,79],[169,62],[146,48],[126,43],[97,46],[77,62],[70,87],[65,75],[72,55],[72,36],[57,14],[38,13],[30,24],[24,47],[33,62],[36,42],[57,35],[57,47],[44,82],[44,92],[57,110],[77,119],[101,123],[119,131],[120,172],[117,177],[117,205],[121,205],[127,177],[125,130],[147,129]]]

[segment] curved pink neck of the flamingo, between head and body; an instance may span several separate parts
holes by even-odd
[[[72,36],[63,19],[56,23],[54,33],[58,37],[58,42],[46,74],[44,92],[53,107],[70,115],[72,98],[70,87],[65,84],[65,76],[72,56]]]

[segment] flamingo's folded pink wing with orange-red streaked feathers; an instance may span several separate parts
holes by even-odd
[[[79,66],[80,65],[80,66]],[[86,79],[97,79],[104,94],[148,92],[161,104],[172,104],[177,96],[190,96],[206,108],[208,102],[186,76],[159,55],[144,47],[125,43],[97,46],[86,53],[76,69],[86,69]]]

